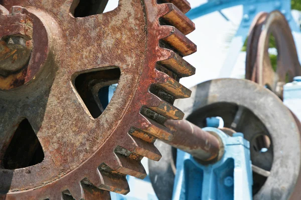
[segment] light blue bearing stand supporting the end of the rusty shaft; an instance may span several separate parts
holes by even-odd
[[[200,164],[189,153],[178,149],[177,173],[173,200],[252,199],[252,163],[250,144],[242,133],[233,136],[218,128],[206,127],[217,133],[224,143],[224,155],[214,163]]]

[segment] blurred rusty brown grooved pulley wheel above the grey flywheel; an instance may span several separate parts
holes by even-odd
[[[278,51],[275,71],[268,54],[271,34]],[[300,74],[301,66],[285,16],[277,10],[259,13],[251,25],[248,37],[246,78],[266,86],[282,99],[283,85]]]

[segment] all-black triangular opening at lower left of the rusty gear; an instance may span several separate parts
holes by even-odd
[[[3,157],[6,169],[17,169],[42,162],[44,152],[41,143],[28,119],[24,119],[16,129]]]

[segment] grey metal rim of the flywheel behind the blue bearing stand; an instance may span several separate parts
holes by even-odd
[[[239,85],[239,87],[236,88],[240,89],[233,89],[233,85]],[[223,102],[245,106],[251,109],[252,112],[263,121],[273,144],[273,164],[271,166],[270,175],[253,198],[289,199],[293,191],[297,191],[299,188],[297,182],[299,182],[300,179],[298,174],[301,164],[299,157],[301,145],[299,142],[300,132],[298,121],[295,121],[290,110],[273,92],[249,80],[230,78],[214,79],[200,83],[190,89],[192,90],[192,97],[190,99],[192,103],[184,103],[181,100],[176,103],[176,105],[185,112],[188,120],[192,120],[192,118],[196,117],[193,120],[194,122],[197,121],[198,115],[194,113],[202,107],[204,108],[206,105]],[[276,113],[281,113],[281,117],[275,116]],[[286,120],[282,120],[284,118]],[[200,123],[203,123],[203,121],[200,121]],[[272,124],[277,126],[278,129],[273,127]],[[283,132],[279,131],[279,127],[281,127],[280,129],[286,127],[290,133],[286,131],[285,134],[288,134],[290,137],[284,136]],[[284,140],[289,140],[289,142],[285,143]],[[284,142],[283,145],[285,145],[285,147],[281,147],[282,142]],[[293,159],[287,155],[288,152],[292,152],[288,150],[291,146],[295,146],[292,148],[295,151],[295,157]],[[283,149],[285,149],[285,151]],[[285,153],[286,156],[283,155]],[[287,167],[290,167],[291,170],[287,170],[286,167],[283,167],[284,163]],[[283,176],[279,174],[283,174]],[[280,179],[277,179],[278,176]]]

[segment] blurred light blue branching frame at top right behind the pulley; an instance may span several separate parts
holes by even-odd
[[[195,19],[205,14],[236,5],[243,5],[243,17],[239,28],[230,43],[228,54],[219,77],[231,76],[241,48],[247,38],[250,25],[257,13],[280,10],[285,15],[291,30],[300,32],[299,25],[297,25],[291,16],[290,0],[209,0],[207,3],[191,9],[186,15],[191,19]]]

